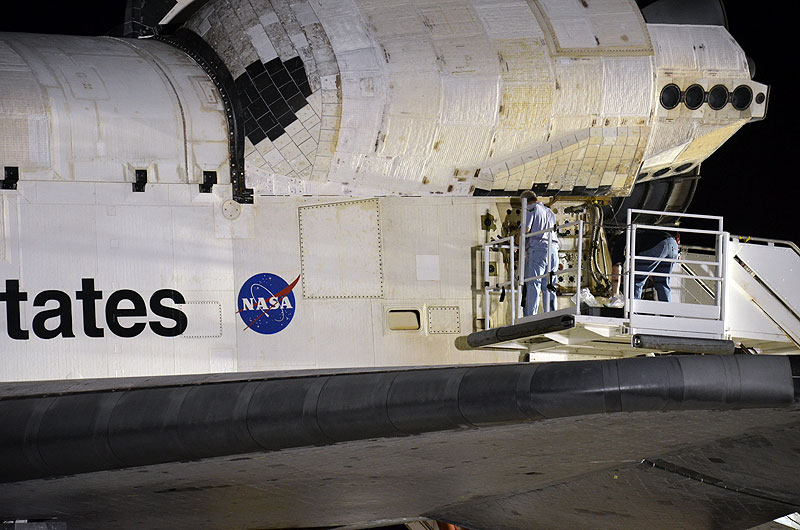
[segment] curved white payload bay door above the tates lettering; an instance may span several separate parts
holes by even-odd
[[[228,177],[227,121],[205,72],[152,40],[7,33],[0,158],[22,180]]]

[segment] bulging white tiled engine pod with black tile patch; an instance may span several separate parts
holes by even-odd
[[[248,182],[265,195],[535,184],[626,195],[643,160],[700,162],[727,127],[763,111],[661,112],[667,82],[750,83],[744,54],[722,28],[648,26],[628,0],[255,1],[253,20],[226,5],[201,9],[188,27],[237,43],[221,51],[234,75],[272,57],[271,44],[282,59],[302,58],[314,91],[315,118],[298,114],[307,139],[287,131],[278,150],[248,146]]]

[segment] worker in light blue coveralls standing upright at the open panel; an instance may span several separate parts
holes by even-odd
[[[527,217],[525,233],[539,232],[553,228],[556,224],[556,216],[553,211],[539,202],[538,197],[532,191],[524,191],[523,198],[528,199]],[[550,239],[552,234],[552,240]],[[552,242],[548,248],[548,242]],[[525,316],[535,315],[539,311],[539,296],[545,296],[545,289],[549,283],[547,273],[547,262],[550,261],[550,270],[558,270],[558,236],[556,231],[544,232],[525,238],[525,278],[541,276],[542,278],[531,280],[527,283],[527,294],[525,296],[525,306],[522,313]],[[545,296],[547,300],[547,296]],[[549,304],[545,311],[556,310],[556,293],[550,292]]]

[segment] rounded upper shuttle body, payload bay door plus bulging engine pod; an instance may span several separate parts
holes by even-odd
[[[216,172],[237,198],[627,195],[767,104],[723,27],[646,24],[634,2],[211,1],[155,39],[3,36],[2,163]]]

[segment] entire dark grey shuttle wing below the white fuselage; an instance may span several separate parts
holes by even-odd
[[[0,387],[0,514],[68,528],[749,528],[800,508],[800,359]]]

